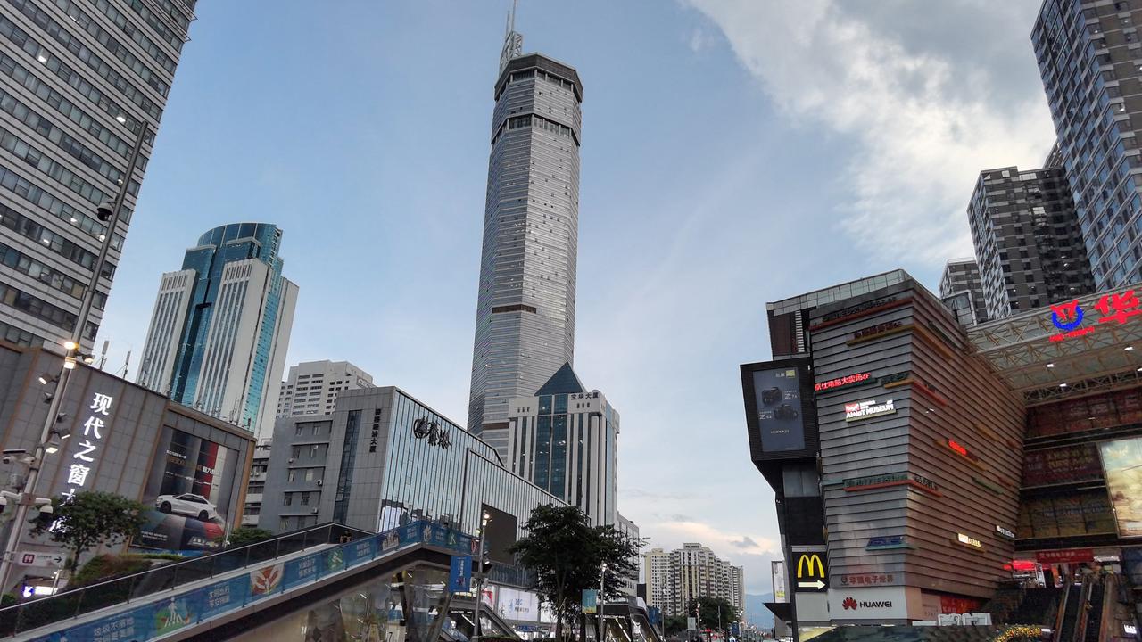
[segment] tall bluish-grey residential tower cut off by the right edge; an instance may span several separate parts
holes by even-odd
[[[1142,280],[1140,24],[1137,0],[1045,0],[1031,32],[1099,290]]]

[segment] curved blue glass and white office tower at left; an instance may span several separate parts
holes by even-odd
[[[297,303],[281,235],[264,223],[215,227],[162,275],[140,385],[268,436]]]

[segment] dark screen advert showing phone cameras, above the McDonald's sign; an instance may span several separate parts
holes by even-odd
[[[797,368],[754,372],[757,426],[765,452],[805,448],[804,409]]]

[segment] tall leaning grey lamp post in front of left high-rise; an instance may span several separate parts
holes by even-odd
[[[21,489],[19,500],[16,501],[16,513],[13,517],[11,529],[8,532],[8,541],[3,547],[3,556],[0,559],[0,591],[8,589],[8,576],[15,565],[16,546],[19,543],[21,531],[23,531],[24,523],[27,520],[27,509],[32,506],[43,505],[42,500],[38,501],[34,497],[35,481],[40,476],[40,466],[43,464],[45,449],[51,441],[54,433],[56,433],[56,423],[59,420],[59,407],[63,404],[64,394],[67,392],[67,382],[71,378],[71,372],[75,369],[77,360],[89,356],[82,352],[83,331],[87,328],[87,319],[91,315],[95,290],[99,283],[99,276],[103,274],[103,267],[107,263],[107,254],[111,250],[115,228],[119,226],[120,212],[122,212],[123,201],[127,199],[127,191],[130,188],[131,177],[135,176],[135,167],[138,164],[139,152],[143,150],[143,142],[146,139],[150,130],[147,122],[144,120],[139,120],[138,126],[139,130],[135,137],[135,147],[131,149],[131,155],[127,162],[127,172],[119,185],[119,193],[115,194],[115,200],[111,202],[104,201],[96,208],[96,215],[99,217],[99,220],[107,223],[107,231],[103,234],[103,244],[99,246],[99,255],[91,267],[91,280],[83,290],[79,314],[75,318],[75,327],[71,335],[72,338],[64,344],[64,347],[67,348],[67,354],[64,356],[63,369],[59,376],[56,377],[56,390],[48,406],[48,416],[43,419],[40,441],[37,442],[35,454],[32,455],[29,462],[27,476]],[[47,506],[50,506],[50,504],[47,504]]]

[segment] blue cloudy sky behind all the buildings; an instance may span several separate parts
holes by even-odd
[[[970,256],[980,170],[1053,139],[1038,0],[523,0],[582,79],[574,368],[620,411],[619,509],[770,589],[773,493],[738,366],[765,303]],[[288,363],[348,360],[467,416],[508,0],[198,6],[99,340],[130,376],[162,272],[204,231],[283,230]]]

